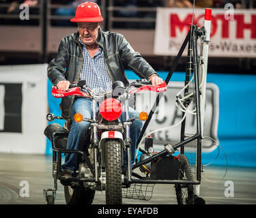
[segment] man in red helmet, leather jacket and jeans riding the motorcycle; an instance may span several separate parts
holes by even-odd
[[[78,31],[61,39],[55,59],[48,65],[48,78],[59,90],[67,90],[73,82],[85,80],[92,90],[110,91],[112,82],[122,81],[127,86],[128,80],[124,67],[131,69],[140,78],[152,81],[152,85],[162,83],[162,78],[154,69],[135,52],[123,35],[102,31],[100,7],[96,3],[85,2],[76,9],[71,22],[77,22]],[[72,120],[68,135],[67,149],[82,149],[83,140],[89,128],[88,122],[74,122],[74,114],[81,113],[91,119],[91,99],[70,95],[61,99],[61,116]],[[129,116],[137,117],[139,113],[130,108]],[[131,148],[134,162],[137,138],[142,123],[139,119],[132,121]],[[78,157],[74,153],[66,154],[62,166],[63,176],[69,177],[77,169]],[[126,167],[124,160],[123,170]]]

